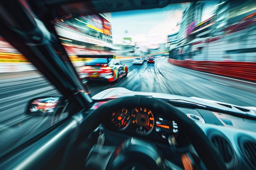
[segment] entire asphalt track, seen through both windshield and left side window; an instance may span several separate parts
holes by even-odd
[[[88,82],[91,95],[107,88],[124,87],[132,91],[195,96],[240,106],[256,106],[255,82],[174,66],[168,63],[166,57],[157,57],[155,64],[144,62],[142,65],[133,65],[131,60],[121,62],[128,65],[127,77],[118,83]],[[10,147],[18,146],[65,117],[35,117],[26,114],[30,99],[58,93],[38,72],[1,73],[0,139],[4,140],[0,141],[0,153],[4,154]]]

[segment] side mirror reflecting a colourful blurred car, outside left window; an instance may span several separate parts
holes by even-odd
[[[63,110],[66,103],[63,97],[38,97],[31,99],[27,113],[31,115],[52,115]]]

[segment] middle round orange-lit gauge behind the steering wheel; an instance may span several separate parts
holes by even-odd
[[[153,130],[155,119],[148,108],[135,108],[131,115],[132,128],[141,135],[147,135]]]

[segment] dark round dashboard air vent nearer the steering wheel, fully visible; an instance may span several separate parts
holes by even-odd
[[[229,142],[224,137],[219,135],[211,137],[211,142],[216,147],[225,163],[229,163],[234,157],[234,152]]]

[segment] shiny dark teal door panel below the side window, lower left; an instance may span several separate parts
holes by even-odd
[[[46,167],[52,168],[53,164],[55,164],[55,166],[58,165],[58,163],[54,163],[52,160],[59,161],[62,158],[61,153],[63,148],[65,148],[70,136],[78,127],[81,120],[81,113],[77,113],[47,135],[34,142],[34,144],[24,148],[20,147],[21,150],[18,150],[0,161],[0,169],[39,170],[45,169]],[[58,157],[57,159],[56,155]],[[51,162],[50,166],[48,164],[49,162]]]

